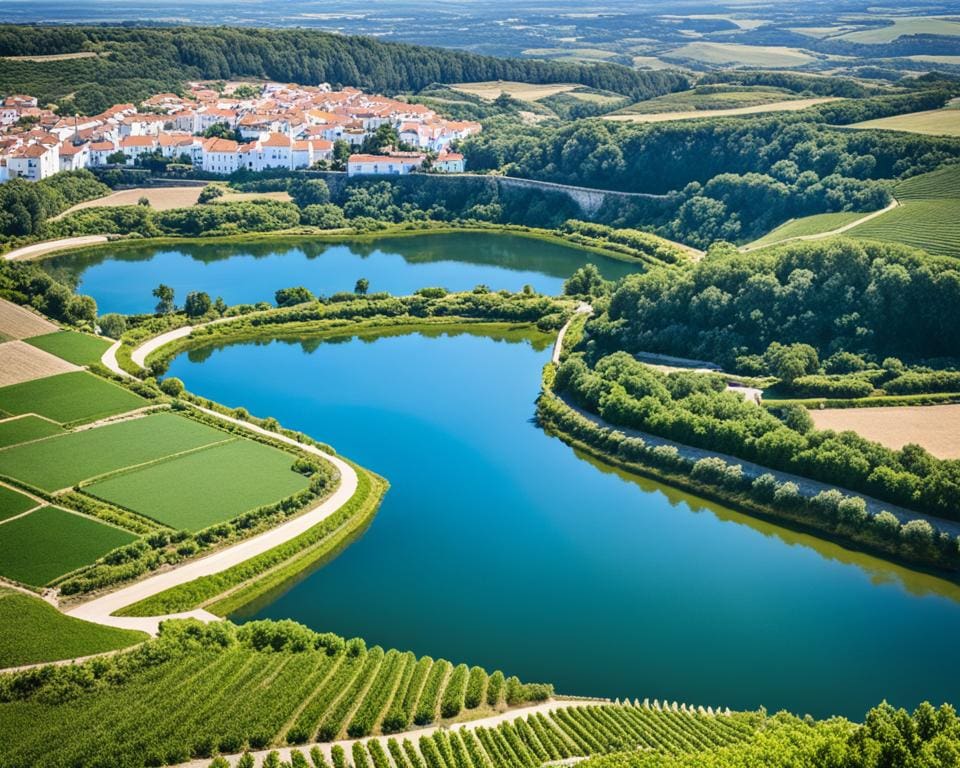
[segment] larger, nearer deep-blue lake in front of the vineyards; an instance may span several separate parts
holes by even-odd
[[[293,618],[561,692],[860,718],[960,694],[960,589],[633,478],[531,421],[545,337],[241,343],[192,391],[391,488],[339,557],[237,619]]]

